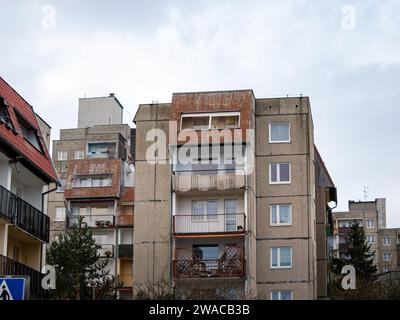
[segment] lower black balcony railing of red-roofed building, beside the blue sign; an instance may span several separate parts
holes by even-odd
[[[30,297],[36,299],[45,299],[47,297],[47,291],[42,288],[44,275],[35,269],[0,255],[0,275],[28,276],[30,278]]]

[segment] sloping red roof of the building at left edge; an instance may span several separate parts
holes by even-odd
[[[32,106],[24,100],[3,78],[0,77],[0,96],[8,105],[8,112],[15,131],[0,124],[1,143],[5,143],[13,153],[23,157],[24,164],[32,168],[46,182],[57,182],[57,174],[41,135],[39,124]],[[44,154],[30,144],[22,135],[15,110],[38,132]]]

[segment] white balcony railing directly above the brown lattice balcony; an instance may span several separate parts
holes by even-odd
[[[173,216],[174,234],[244,234],[246,219],[244,213],[233,214],[206,214]]]

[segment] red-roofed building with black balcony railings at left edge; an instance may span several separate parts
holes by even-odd
[[[46,140],[32,106],[0,78],[0,275],[29,276],[31,298],[46,295],[44,199],[58,181]]]

